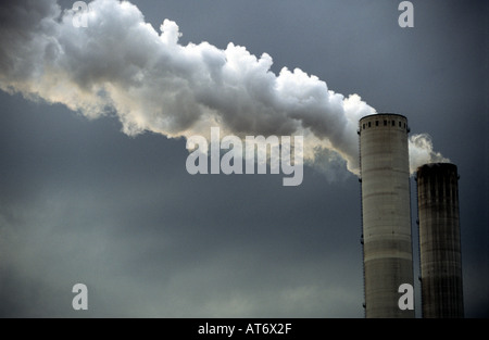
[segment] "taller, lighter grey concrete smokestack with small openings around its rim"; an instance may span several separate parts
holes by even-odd
[[[413,286],[408,134],[399,114],[360,119],[366,317],[414,317],[398,305],[399,287]]]

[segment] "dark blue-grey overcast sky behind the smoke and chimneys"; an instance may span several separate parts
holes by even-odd
[[[400,28],[399,2],[133,1],[156,30],[175,21],[181,45],[266,52],[274,73],[299,67],[429,134],[461,174],[466,316],[488,317],[488,5],[412,1]],[[183,138],[0,102],[1,316],[363,317],[360,186],[344,165],[305,167],[298,187],[191,176]],[[72,308],[76,282],[87,312]]]

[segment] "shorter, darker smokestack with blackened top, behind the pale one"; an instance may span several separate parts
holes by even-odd
[[[456,165],[425,164],[416,180],[423,317],[464,317]]]

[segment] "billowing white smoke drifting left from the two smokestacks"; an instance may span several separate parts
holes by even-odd
[[[89,7],[87,27],[75,27],[79,13],[55,0],[2,1],[0,88],[89,118],[115,114],[131,136],[209,136],[212,126],[239,137],[303,135],[306,161],[334,152],[359,173],[358,122],[375,110],[358,95],[335,93],[298,68],[276,75],[268,54],[234,43],[183,46],[176,23],[165,20],[159,34],[129,2]],[[441,158],[425,135],[410,150],[412,169]]]

